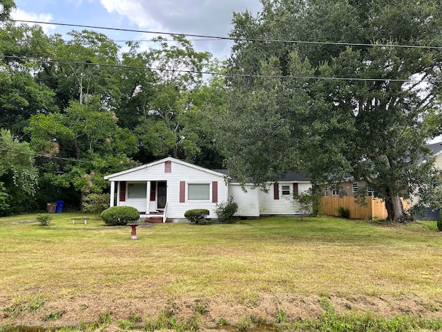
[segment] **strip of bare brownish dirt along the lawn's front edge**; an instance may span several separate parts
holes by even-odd
[[[307,320],[320,317],[325,313],[324,303],[330,304],[334,311],[343,314],[374,313],[383,317],[408,314],[428,318],[440,317],[442,299],[422,300],[408,296],[366,296],[355,295],[340,297],[336,295],[291,295],[291,294],[260,294],[253,303],[231,303],[222,297],[207,299],[171,299],[140,297],[139,299],[113,299],[97,294],[82,297],[60,298],[48,300],[35,311],[23,310],[12,314],[12,304],[1,299],[1,326],[41,326],[66,327],[77,326],[81,322],[96,322],[103,314],[109,315],[117,328],[121,320],[133,320],[139,317],[139,326],[145,322],[155,322],[160,313],[171,313],[177,322],[189,322],[193,317],[200,317],[200,326],[213,329],[221,321],[229,325],[238,325],[240,320],[249,318],[251,322],[272,324],[276,322],[276,313],[281,309],[287,314],[287,320]],[[6,305],[5,305],[6,304]],[[59,317],[54,318],[55,313]],[[52,317],[51,317],[52,315]]]

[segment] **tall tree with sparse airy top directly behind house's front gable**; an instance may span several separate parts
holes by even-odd
[[[142,149],[155,157],[190,160],[200,152],[198,123],[202,118],[199,93],[202,71],[210,53],[196,52],[191,42],[174,36],[173,44],[162,37],[148,55],[157,72],[151,98],[144,107],[135,133]]]

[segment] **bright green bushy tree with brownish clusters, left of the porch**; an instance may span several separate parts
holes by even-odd
[[[136,164],[131,156],[137,140],[128,129],[117,126],[117,118],[99,98],[71,102],[64,113],[32,116],[27,128],[31,145],[41,154],[42,187],[57,194],[102,192],[103,176]],[[59,199],[59,198],[58,198]]]

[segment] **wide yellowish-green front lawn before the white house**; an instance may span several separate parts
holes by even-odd
[[[94,216],[74,225],[70,218],[83,214],[52,214],[47,227],[35,216],[0,219],[0,326],[77,325],[104,314],[155,321],[165,310],[238,326],[247,317],[274,322],[278,313],[314,319],[327,311],[324,300],[337,313],[430,319],[442,311],[435,222],[167,223],[139,226],[132,241],[128,226]]]

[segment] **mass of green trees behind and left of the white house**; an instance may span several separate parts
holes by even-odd
[[[3,1],[8,18],[13,1]],[[103,176],[174,156],[220,168],[212,116],[220,89],[200,72],[218,66],[182,36],[125,50],[106,35],[0,21],[0,214],[64,200],[79,208]],[[158,68],[154,70],[153,68]]]

